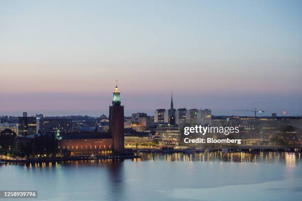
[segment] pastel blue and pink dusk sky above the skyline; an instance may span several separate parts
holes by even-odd
[[[0,116],[302,115],[302,1],[1,0]]]

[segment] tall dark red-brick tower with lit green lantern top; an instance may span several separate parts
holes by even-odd
[[[113,92],[112,106],[109,107],[109,131],[113,138],[113,151],[124,152],[124,106],[120,105],[117,85]]]

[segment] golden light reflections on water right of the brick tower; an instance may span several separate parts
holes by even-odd
[[[281,163],[287,166],[301,164],[301,153],[297,152],[203,152],[194,154],[161,154],[161,153],[140,153],[138,161],[218,161],[232,163]]]

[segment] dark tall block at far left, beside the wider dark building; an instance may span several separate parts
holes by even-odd
[[[27,112],[23,112],[22,117],[18,117],[18,135],[26,136],[37,134],[37,118],[28,117]]]

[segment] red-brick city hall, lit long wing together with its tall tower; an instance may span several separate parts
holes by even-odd
[[[120,102],[117,84],[112,105],[109,106],[109,120],[109,133],[95,131],[62,134],[58,148],[70,150],[72,156],[124,153],[124,106]]]

